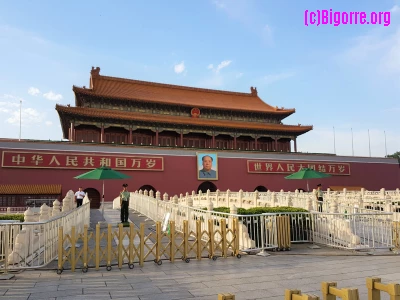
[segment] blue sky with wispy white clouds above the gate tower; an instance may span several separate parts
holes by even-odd
[[[306,10],[329,9],[367,20],[387,12],[390,24],[305,25]],[[55,105],[75,106],[72,86],[89,86],[92,66],[209,89],[255,86],[264,102],[296,109],[284,124],[314,126],[298,151],[400,151],[400,0],[0,0],[0,137],[19,137],[22,100],[22,139],[61,140]]]

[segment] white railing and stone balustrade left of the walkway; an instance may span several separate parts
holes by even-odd
[[[58,229],[69,232],[72,226],[83,232],[90,223],[90,202],[86,195],[83,205],[76,208],[74,193],[69,191],[62,201],[46,204],[35,214],[31,208],[24,213],[24,222],[0,223],[0,270],[43,267],[57,257]]]

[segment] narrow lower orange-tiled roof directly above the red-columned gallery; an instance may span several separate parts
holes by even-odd
[[[242,122],[234,120],[215,120],[206,118],[191,118],[182,116],[170,116],[170,115],[153,115],[146,113],[138,113],[131,111],[122,111],[116,109],[100,109],[100,108],[88,108],[88,107],[68,107],[62,105],[56,105],[56,110],[62,118],[62,114],[70,114],[81,117],[94,117],[94,118],[111,118],[116,120],[126,121],[145,121],[150,123],[169,123],[169,124],[180,124],[180,125],[197,125],[207,127],[226,127],[226,128],[241,128],[241,129],[253,129],[253,130],[268,130],[268,131],[288,131],[293,132],[296,135],[300,135],[312,130],[312,126],[301,126],[299,125],[283,125],[283,124],[271,124],[271,123],[260,123],[260,122]]]

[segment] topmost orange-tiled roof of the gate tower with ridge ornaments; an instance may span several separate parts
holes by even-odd
[[[100,75],[100,68],[91,71],[90,88],[73,87],[76,106],[81,106],[79,95],[93,95],[124,100],[184,105],[188,107],[239,110],[290,115],[295,109],[284,109],[266,104],[251,87],[250,93],[209,90],[179,85],[147,82]]]

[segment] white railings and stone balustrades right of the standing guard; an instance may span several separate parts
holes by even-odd
[[[323,212],[317,212],[319,203],[312,199],[312,195],[306,193],[302,195],[305,196],[303,199],[305,201],[299,199],[293,201],[293,199],[290,199],[290,195],[286,195],[284,201],[275,201],[275,205],[271,206],[301,207],[308,209],[309,213],[261,215],[238,215],[237,199],[230,198],[229,192],[220,193],[225,197],[216,197],[212,193],[207,193],[204,196],[197,195],[196,197],[186,196],[185,198],[181,195],[180,198],[173,197],[172,201],[168,201],[166,195],[164,195],[164,201],[157,199],[160,196],[159,192],[157,192],[156,198],[152,197],[151,192],[150,195],[146,194],[146,191],[144,193],[142,191],[131,193],[130,208],[154,221],[165,221],[165,217],[169,216],[169,220],[175,221],[177,230],[182,230],[183,220],[189,221],[189,230],[195,230],[195,221],[201,220],[202,230],[207,231],[209,220],[213,220],[214,228],[218,229],[221,218],[226,219],[228,226],[233,218],[238,218],[239,247],[242,251],[276,249],[278,247],[277,215],[290,216],[290,239],[292,242],[316,242],[354,250],[391,249],[395,247],[392,212],[385,213],[368,209],[365,209],[368,211],[367,213],[338,212],[340,206],[332,200],[323,201]],[[215,194],[219,194],[219,192]],[[277,195],[271,197],[274,198]],[[193,205],[195,202],[193,198],[197,201],[197,207]],[[244,205],[249,208],[254,207],[254,204],[248,198],[242,197],[241,200],[242,207]],[[254,198],[254,201],[258,202],[258,199]],[[217,203],[219,207],[230,207],[230,213],[212,211],[214,203]],[[119,198],[117,198],[113,202],[113,207],[117,209],[119,205]]]

